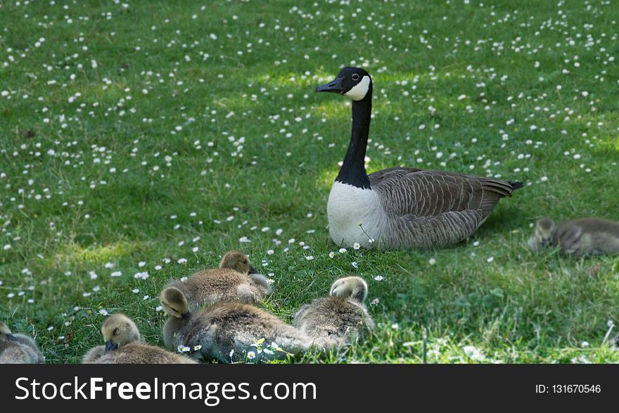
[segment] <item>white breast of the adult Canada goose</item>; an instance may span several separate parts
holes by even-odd
[[[381,238],[384,212],[378,194],[371,189],[334,182],[326,212],[331,239],[338,246],[358,242],[371,248],[369,240],[377,242]]]

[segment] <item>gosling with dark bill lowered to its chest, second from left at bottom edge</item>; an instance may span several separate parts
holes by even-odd
[[[132,319],[125,314],[112,314],[103,325],[101,334],[106,345],[91,348],[85,364],[194,364],[194,360],[143,343],[140,332]]]

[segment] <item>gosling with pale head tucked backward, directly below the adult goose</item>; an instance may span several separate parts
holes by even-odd
[[[367,293],[367,284],[359,277],[337,279],[328,297],[300,307],[295,326],[319,348],[342,348],[374,329],[374,321],[364,305]]]

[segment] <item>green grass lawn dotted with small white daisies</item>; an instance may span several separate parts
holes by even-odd
[[[0,319],[53,363],[106,312],[162,345],[161,286],[238,249],[288,322],[368,281],[375,333],[297,362],[421,362],[423,331],[428,362],[619,362],[619,259],[526,246],[542,215],[619,220],[618,20],[616,0],[0,0]],[[368,172],[525,187],[460,246],[338,252],[350,101],[314,88],[345,65],[374,78]]]

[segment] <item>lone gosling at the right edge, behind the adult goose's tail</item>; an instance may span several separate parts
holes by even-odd
[[[561,222],[544,217],[535,224],[529,247],[539,251],[545,246],[559,247],[563,253],[583,255],[616,255],[619,253],[619,223],[599,218],[579,218]]]

